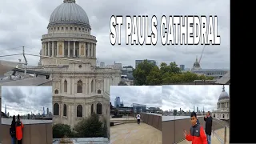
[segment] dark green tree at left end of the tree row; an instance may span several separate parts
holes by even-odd
[[[137,68],[133,70],[134,85],[142,86],[146,84],[146,77],[150,74],[150,71],[154,68],[154,64],[144,60],[139,63]]]

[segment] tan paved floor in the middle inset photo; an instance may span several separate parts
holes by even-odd
[[[111,144],[162,144],[162,131],[145,123],[122,124],[110,127]]]

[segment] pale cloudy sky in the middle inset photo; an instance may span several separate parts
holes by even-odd
[[[133,103],[146,107],[162,107],[162,86],[110,86],[110,102],[114,106],[114,98],[120,97],[124,106]]]

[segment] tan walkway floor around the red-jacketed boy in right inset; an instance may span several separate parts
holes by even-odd
[[[227,133],[226,133],[226,143],[230,143],[230,129],[227,128],[226,129]],[[222,139],[224,139],[224,128],[222,129],[219,129],[219,130],[215,130],[215,132],[218,134],[218,136]],[[178,144],[191,144],[192,142],[189,142],[187,140],[184,140],[182,142],[179,142]],[[213,144],[218,144],[218,143],[221,143],[218,141],[218,138],[214,137],[214,135],[212,134],[211,135],[211,143]]]

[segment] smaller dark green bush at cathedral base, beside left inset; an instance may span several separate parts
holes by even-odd
[[[64,137],[72,137],[72,131],[69,125],[65,124],[55,124],[53,126],[53,138],[64,138]]]

